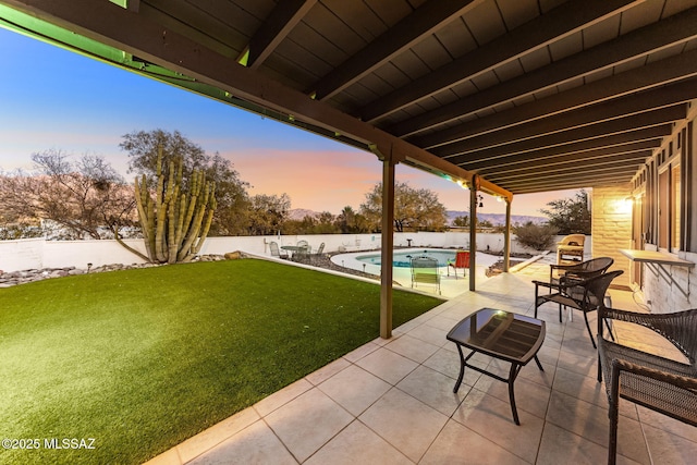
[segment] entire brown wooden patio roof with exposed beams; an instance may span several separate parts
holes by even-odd
[[[0,0],[0,24],[513,194],[626,183],[697,98],[697,0]]]

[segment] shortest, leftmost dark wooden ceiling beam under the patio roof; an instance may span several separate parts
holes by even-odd
[[[317,0],[284,0],[279,2],[264,24],[249,39],[247,66],[257,69],[279,44],[301,22]]]

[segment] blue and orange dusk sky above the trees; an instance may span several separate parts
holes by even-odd
[[[358,209],[381,179],[372,155],[296,127],[158,83],[0,28],[0,170],[30,170],[30,155],[60,149],[103,156],[126,179],[119,148],[133,131],[180,131],[208,154],[229,158],[250,194],[283,194],[292,208],[339,213]],[[396,179],[438,194],[449,210],[467,210],[468,191],[409,167]],[[542,216],[550,200],[575,191],[515,196],[513,215]],[[505,206],[485,195],[485,213]]]

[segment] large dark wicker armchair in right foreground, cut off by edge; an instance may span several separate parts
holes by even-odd
[[[620,345],[603,338],[601,320],[628,321],[650,328],[687,357],[687,364]],[[697,309],[647,315],[601,308],[598,314],[598,381],[604,377],[610,437],[608,463],[617,449],[620,397],[697,426]]]

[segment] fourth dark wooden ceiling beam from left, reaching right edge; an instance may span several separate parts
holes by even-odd
[[[653,52],[656,54],[657,51],[688,41],[695,37],[697,37],[697,8],[637,29],[610,42],[555,61],[548,66],[506,81],[496,87],[489,87],[448,106],[419,114],[412,120],[400,122],[388,131],[396,135],[411,134],[416,130],[423,131],[463,115],[473,114],[485,108],[500,105],[503,101],[533,95],[540,89],[559,86],[568,79],[591,73],[597,74],[599,70],[606,70],[611,75],[612,68],[617,64],[647,53]],[[601,78],[601,76],[595,76],[592,81],[598,78]]]

